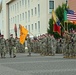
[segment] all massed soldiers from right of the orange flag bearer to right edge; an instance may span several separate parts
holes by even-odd
[[[62,53],[64,57],[76,57],[76,32],[67,32],[63,38],[55,39],[53,35],[43,34],[30,41],[30,50],[41,55]]]

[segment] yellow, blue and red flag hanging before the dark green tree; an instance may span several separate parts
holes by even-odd
[[[60,25],[60,20],[56,16],[54,10],[52,10],[52,18],[54,20],[54,25],[53,25],[53,31],[57,32],[59,35],[61,35],[61,25]]]

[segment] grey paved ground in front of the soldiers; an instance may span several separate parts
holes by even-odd
[[[16,58],[0,58],[0,75],[76,75],[76,59],[62,55],[40,56],[17,54]]]

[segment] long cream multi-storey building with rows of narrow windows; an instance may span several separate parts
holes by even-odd
[[[2,33],[8,38],[14,34],[14,25],[23,25],[33,35],[47,33],[52,9],[66,3],[66,0],[2,0],[1,24]],[[31,34],[31,35],[32,35]]]

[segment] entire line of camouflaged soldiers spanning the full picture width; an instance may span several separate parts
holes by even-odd
[[[27,48],[29,56],[31,52],[40,53],[40,55],[55,55],[56,53],[63,53],[64,57],[76,57],[76,32],[64,32],[63,38],[55,39],[51,34],[43,34],[33,39],[27,35]],[[0,54],[1,58],[5,58],[6,53],[10,57],[16,57],[16,52],[25,52],[25,44],[21,45],[19,38],[13,38],[13,34],[9,39],[4,39],[0,35]]]

